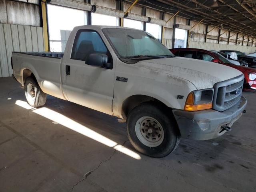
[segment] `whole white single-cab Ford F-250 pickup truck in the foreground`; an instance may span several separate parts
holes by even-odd
[[[33,107],[46,94],[126,121],[134,148],[160,158],[180,138],[208,140],[242,115],[244,75],[216,63],[174,56],[141,30],[75,27],[63,53],[13,52],[13,76]]]

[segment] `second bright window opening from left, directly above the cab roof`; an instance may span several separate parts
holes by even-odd
[[[119,26],[119,18],[92,13],[92,25]]]

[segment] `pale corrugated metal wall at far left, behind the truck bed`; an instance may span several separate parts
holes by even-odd
[[[0,77],[12,75],[12,51],[44,51],[43,28],[0,24]]]

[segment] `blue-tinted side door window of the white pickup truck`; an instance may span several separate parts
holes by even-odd
[[[107,48],[95,31],[80,30],[76,34],[71,59],[86,61],[92,53],[107,54]]]

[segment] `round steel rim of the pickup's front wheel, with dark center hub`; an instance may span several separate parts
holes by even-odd
[[[164,140],[162,125],[150,116],[143,116],[137,120],[135,133],[140,142],[148,147],[157,147]]]

